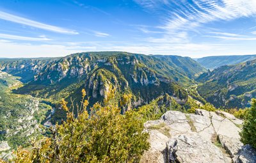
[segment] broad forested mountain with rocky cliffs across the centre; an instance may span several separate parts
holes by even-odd
[[[165,93],[184,103],[188,93],[183,86],[193,84],[195,75],[205,71],[191,58],[128,52],[84,52],[63,58],[0,59],[0,67],[3,72],[19,76],[20,81],[26,83],[15,93],[44,98],[58,107],[62,98],[79,102],[83,88],[88,92],[90,105],[102,101],[111,89],[115,89],[119,102],[124,94],[132,96],[131,104],[124,111],[148,104]]]

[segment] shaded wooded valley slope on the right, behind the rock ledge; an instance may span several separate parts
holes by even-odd
[[[221,66],[198,79],[198,93],[215,107],[250,107],[256,97],[256,59],[238,65]]]

